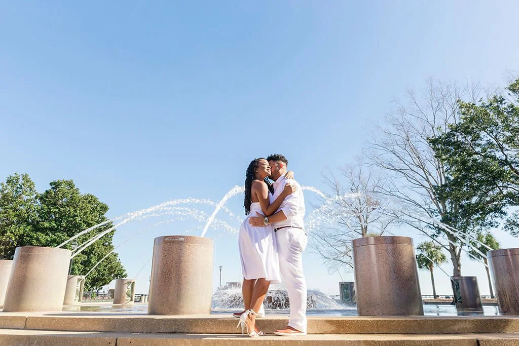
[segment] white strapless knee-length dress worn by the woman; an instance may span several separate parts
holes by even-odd
[[[263,215],[260,202],[251,204],[251,212],[240,227],[238,247],[240,249],[241,270],[244,279],[260,279],[281,282],[279,272],[278,244],[274,234],[274,227],[252,227],[249,217]]]

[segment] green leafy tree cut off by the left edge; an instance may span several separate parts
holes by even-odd
[[[0,183],[0,259],[12,259],[37,215],[37,193],[28,174],[15,173]]]

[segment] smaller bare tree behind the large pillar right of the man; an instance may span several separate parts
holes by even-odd
[[[322,200],[318,216],[312,215],[307,224],[315,240],[312,247],[331,270],[352,268],[351,241],[380,236],[392,221],[385,214],[386,202],[373,195],[374,187],[383,182],[361,160],[341,169],[340,179],[331,170],[324,178],[332,195]]]

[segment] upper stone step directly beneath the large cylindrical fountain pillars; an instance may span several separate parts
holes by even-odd
[[[226,315],[154,316],[88,312],[0,313],[0,328],[125,333],[237,334]],[[258,319],[266,333],[284,327],[284,316]],[[308,317],[309,334],[519,333],[519,316]]]

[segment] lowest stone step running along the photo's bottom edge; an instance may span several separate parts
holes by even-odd
[[[87,333],[54,330],[0,329],[1,345],[117,345],[117,346],[239,346],[261,345],[363,345],[363,346],[516,346],[519,333],[488,334],[313,334],[301,337],[267,335],[249,338],[211,334]]]

